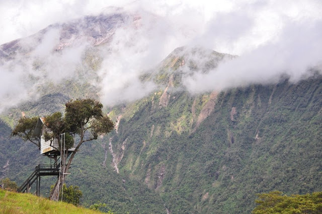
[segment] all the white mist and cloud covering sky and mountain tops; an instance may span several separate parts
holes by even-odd
[[[19,40],[22,49],[14,58],[0,60],[0,112],[22,101],[37,99],[43,84],[58,85],[70,79],[94,85],[104,105],[135,101],[157,88],[153,82],[142,83],[141,75],[153,72],[160,61],[180,46],[238,55],[219,63],[207,74],[197,71],[185,78],[184,86],[192,94],[272,84],[285,75],[296,83],[310,77],[312,67],[320,72],[322,64],[319,1],[46,4],[17,0],[0,6],[4,20],[0,24],[4,32],[0,41],[26,37]],[[61,40],[62,24],[99,14],[131,16],[113,29],[107,46],[97,48],[100,64],[93,70],[84,65],[87,51],[94,45],[93,38],[87,36],[88,31],[78,29],[78,36],[72,34]],[[133,21],[133,17],[138,21]],[[59,24],[43,32],[41,39],[30,36],[55,23]],[[10,54],[3,49],[0,53]],[[194,60],[202,63],[205,58]]]

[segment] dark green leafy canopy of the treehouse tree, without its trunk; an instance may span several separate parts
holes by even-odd
[[[62,133],[75,133],[81,137],[76,145],[79,148],[85,141],[97,139],[99,135],[104,135],[114,128],[114,123],[107,115],[103,114],[103,104],[94,99],[70,100],[65,104],[65,112],[55,112],[44,117],[44,124],[50,130],[44,137],[46,140],[57,138]],[[22,117],[12,131],[12,135],[29,140],[40,148],[40,136],[34,135],[34,129],[38,117]],[[85,134],[89,131],[89,134]],[[85,136],[87,138],[85,138]],[[68,140],[70,139],[67,136]]]

